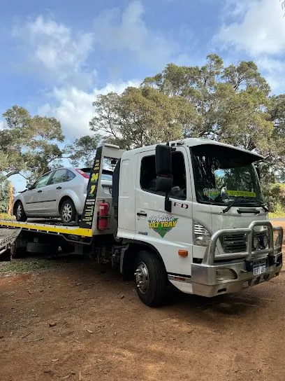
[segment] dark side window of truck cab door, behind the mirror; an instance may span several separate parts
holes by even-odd
[[[169,194],[172,198],[186,199],[186,170],[184,156],[181,152],[173,152],[173,188]],[[142,158],[140,165],[140,187],[143,191],[164,195],[156,191],[155,155]]]

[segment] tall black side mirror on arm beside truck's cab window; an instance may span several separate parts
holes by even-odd
[[[171,212],[172,205],[168,193],[173,187],[172,176],[172,153],[171,147],[158,144],[155,148],[155,168],[156,168],[156,191],[166,193],[164,209]]]

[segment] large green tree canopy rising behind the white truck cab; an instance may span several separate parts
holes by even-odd
[[[127,149],[183,137],[232,144],[264,155],[271,178],[285,164],[285,95],[269,93],[254,62],[224,67],[208,55],[202,67],[168,64],[140,88],[98,95],[90,127]]]

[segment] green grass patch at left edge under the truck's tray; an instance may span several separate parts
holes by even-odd
[[[0,262],[0,275],[7,273],[35,272],[50,268],[52,261],[41,258],[24,258],[11,262]]]

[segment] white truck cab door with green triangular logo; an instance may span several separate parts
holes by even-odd
[[[192,194],[189,157],[185,147],[173,152],[173,191],[170,193],[172,212],[164,209],[165,195],[155,189],[155,151],[140,153],[136,181],[136,239],[152,244],[163,254],[166,270],[189,274],[185,264],[192,257]],[[187,258],[178,256],[186,249]],[[189,274],[190,275],[190,274]]]

